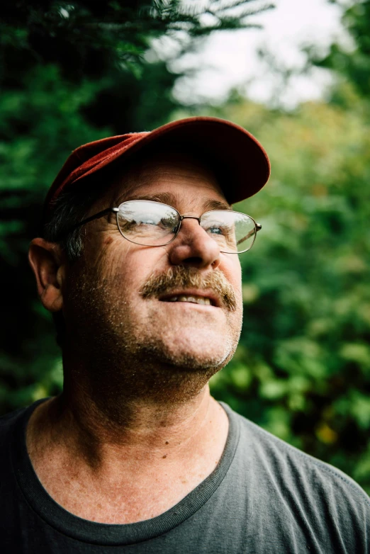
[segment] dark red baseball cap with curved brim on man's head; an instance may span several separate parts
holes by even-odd
[[[88,142],[67,158],[50,187],[44,206],[44,220],[62,191],[78,186],[96,171],[120,159],[124,164],[147,145],[158,143],[186,145],[202,152],[215,164],[223,164],[230,179],[222,185],[230,204],[249,198],[268,181],[270,163],[267,153],[250,132],[228,120],[208,117],[186,118],[162,125],[151,132],[130,132]]]

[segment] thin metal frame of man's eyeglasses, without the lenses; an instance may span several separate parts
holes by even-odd
[[[176,233],[174,234],[174,237],[172,237],[171,240],[169,240],[169,242],[165,242],[164,244],[140,244],[140,242],[135,242],[131,239],[128,239],[128,237],[125,237],[125,235],[123,234],[123,232],[120,230],[120,224],[118,223],[118,213],[120,211],[120,206],[127,203],[127,202],[133,202],[133,200],[138,200],[140,202],[155,202],[156,204],[162,204],[164,206],[167,206],[168,208],[172,208],[172,210],[175,210],[176,213],[178,213],[179,215],[179,225],[177,227],[177,230],[176,230]],[[125,200],[124,202],[121,202],[120,205],[118,206],[118,208],[106,208],[105,210],[101,210],[101,212],[98,212],[94,215],[90,215],[89,217],[86,217],[86,219],[80,221],[79,223],[77,223],[77,225],[74,225],[69,231],[67,231],[66,234],[69,234],[73,231],[75,231],[76,229],[78,229],[79,227],[82,227],[82,225],[86,225],[86,223],[89,223],[90,221],[94,221],[94,220],[97,220],[97,219],[100,219],[101,217],[103,217],[104,215],[107,215],[108,213],[116,213],[116,223],[117,223],[117,227],[118,227],[118,231],[120,232],[120,234],[122,235],[122,237],[126,240],[128,240],[128,242],[132,242],[133,244],[138,244],[139,246],[142,246],[142,247],[164,247],[164,246],[167,246],[167,244],[170,244],[172,241],[174,241],[174,239],[176,239],[177,235],[179,234],[179,231],[181,229],[181,222],[183,220],[197,220],[198,221],[198,224],[199,226],[201,225],[201,217],[203,215],[205,215],[206,213],[212,213],[212,212],[223,212],[223,211],[230,211],[232,213],[240,213],[241,215],[246,215],[247,217],[249,217],[252,222],[254,222],[254,229],[255,229],[255,232],[254,232],[254,239],[253,239],[253,242],[252,244],[250,245],[249,248],[247,248],[246,250],[242,250],[240,252],[224,252],[222,250],[220,250],[220,252],[222,254],[244,254],[244,252],[247,252],[248,250],[250,250],[254,244],[254,241],[256,239],[256,235],[257,235],[257,232],[259,232],[261,229],[262,229],[262,225],[261,223],[257,223],[256,220],[254,220],[254,218],[252,217],[252,215],[247,215],[246,213],[242,213],[242,212],[236,212],[235,210],[207,210],[206,212],[203,212],[199,217],[196,217],[195,215],[181,215],[179,213],[178,210],[176,210],[176,208],[174,208],[173,206],[169,205],[169,204],[165,204],[164,202],[158,202],[157,200],[142,200],[141,198],[133,198],[133,200]],[[202,227],[203,228],[203,227]],[[245,238],[248,238],[248,237],[245,237]]]

